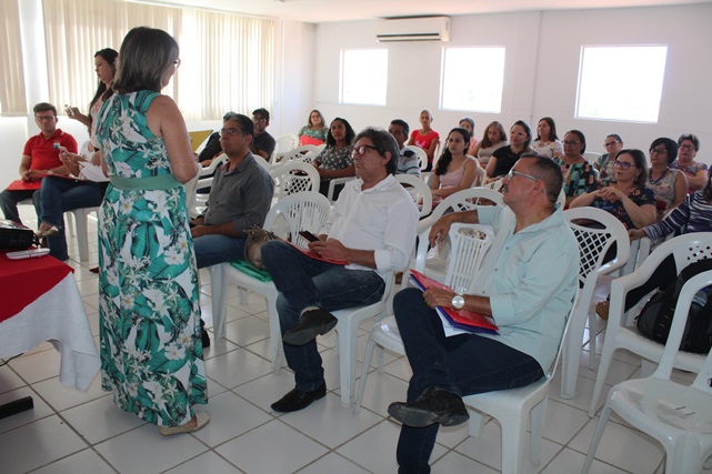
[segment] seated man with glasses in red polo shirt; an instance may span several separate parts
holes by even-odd
[[[67,168],[59,160],[56,144],[66,147],[77,153],[77,140],[57,128],[57,109],[51,103],[40,102],[34,105],[34,123],[40,133],[31,137],[24,144],[20,162],[20,178],[27,183],[24,190],[4,190],[0,193],[0,209],[4,219],[20,222],[18,203],[32,199],[37,215],[40,215],[40,180],[48,174],[68,174]]]

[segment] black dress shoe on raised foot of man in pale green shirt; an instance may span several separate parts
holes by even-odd
[[[455,426],[470,418],[462,399],[439,386],[429,386],[410,403],[394,402],[388,413],[408,426],[424,427],[433,423]]]

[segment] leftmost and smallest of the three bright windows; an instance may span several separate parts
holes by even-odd
[[[385,105],[387,49],[341,50],[341,103]]]

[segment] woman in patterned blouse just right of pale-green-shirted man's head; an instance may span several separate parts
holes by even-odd
[[[570,130],[563,137],[563,155],[554,158],[554,163],[561,167],[563,174],[563,192],[566,195],[566,204],[573,201],[585,190],[596,183],[598,172],[585,158],[585,137],[579,130]]]

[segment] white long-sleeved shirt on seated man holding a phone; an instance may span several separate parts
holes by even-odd
[[[349,249],[373,250],[381,276],[405,270],[418,232],[413,199],[391,174],[365,191],[362,186],[360,178],[345,184],[321,233]],[[355,263],[347,269],[373,270]]]

